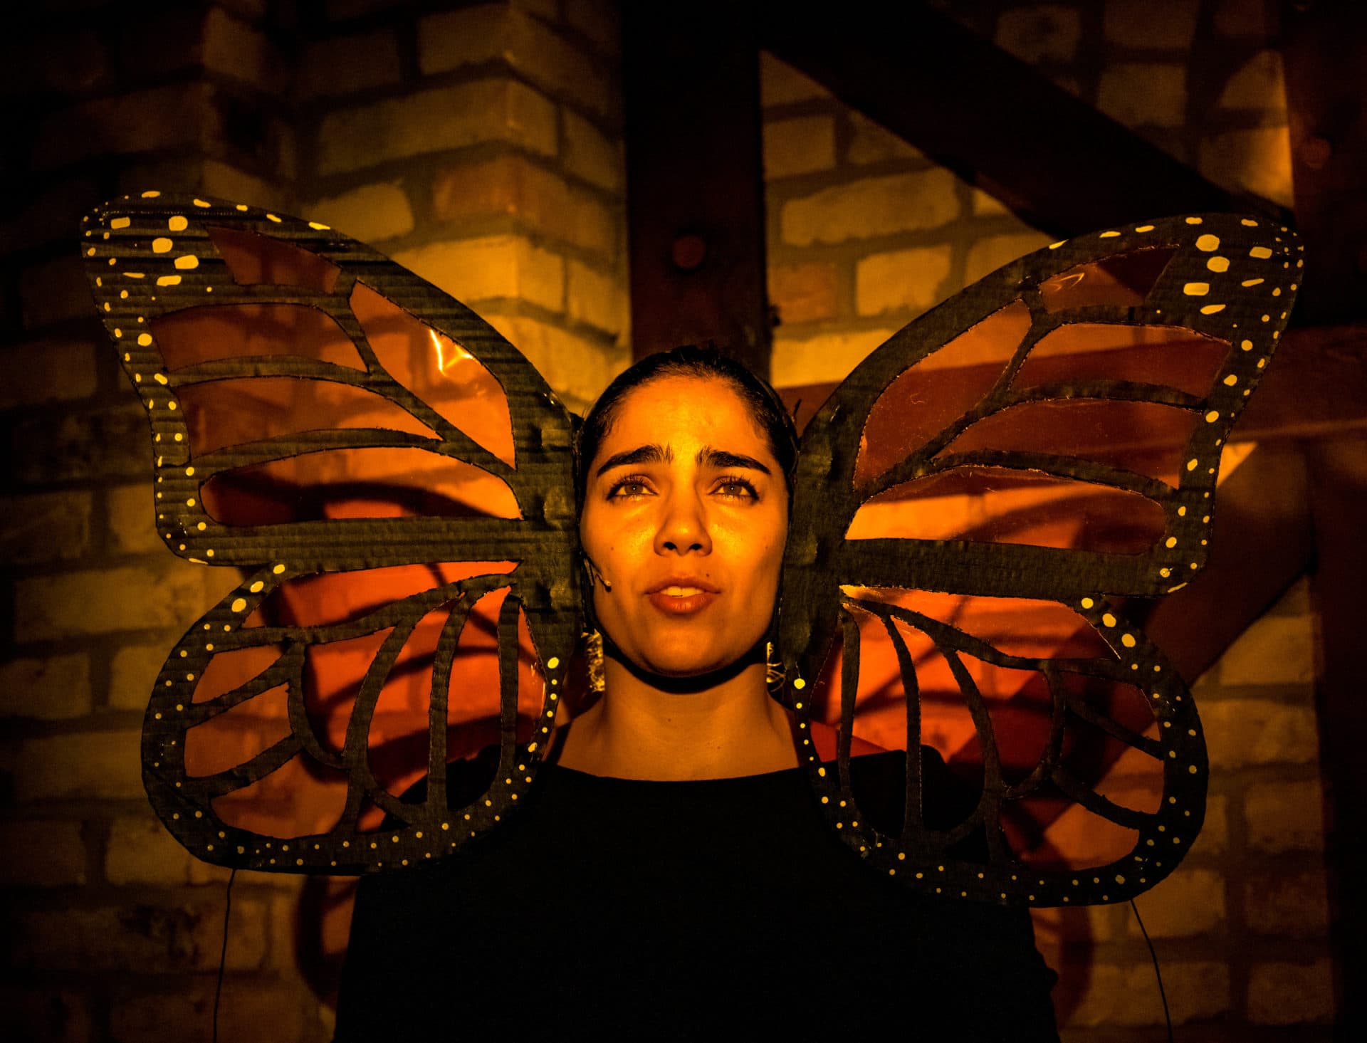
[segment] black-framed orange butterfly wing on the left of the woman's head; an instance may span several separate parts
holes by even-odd
[[[534,776],[580,633],[569,411],[478,316],[323,224],[144,193],[86,217],[81,249],[148,410],[159,534],[243,570],[152,692],[163,822],[208,861],[298,872],[489,828]],[[488,683],[462,686],[474,651]],[[372,749],[395,708],[417,805]],[[488,742],[485,791],[448,811],[448,757]],[[241,813],[272,787],[317,794],[314,819]],[[385,816],[403,824],[381,835]]]

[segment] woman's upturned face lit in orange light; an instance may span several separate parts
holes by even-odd
[[[604,633],[637,667],[730,666],[774,612],[787,487],[741,396],[715,377],[627,392],[589,463],[580,540]]]

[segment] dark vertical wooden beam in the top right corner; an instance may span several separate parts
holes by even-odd
[[[1296,226],[1305,236],[1301,323],[1367,317],[1367,8],[1284,4]]]

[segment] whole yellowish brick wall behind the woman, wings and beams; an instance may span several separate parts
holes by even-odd
[[[469,302],[582,407],[630,342],[614,7],[70,0],[5,45],[0,997],[21,1036],[206,1039],[223,913],[224,873],[146,808],[137,746],[165,649],[236,577],[152,530],[145,420],[87,317],[77,220],[149,186],[323,220]],[[1289,202],[1273,4],[953,10],[1213,179]],[[839,379],[1046,242],[768,56],[763,104],[781,385]],[[1208,824],[1139,899],[1174,1018],[1203,1039],[1311,1039],[1329,1017],[1312,625],[1301,584],[1197,685]],[[238,876],[223,1038],[328,1038],[346,894]],[[1154,1038],[1128,909],[1043,913],[1038,935],[1066,1038]]]

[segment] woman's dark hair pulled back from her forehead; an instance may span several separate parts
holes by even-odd
[[[642,384],[663,377],[715,377],[730,384],[764,432],[774,459],[783,469],[783,480],[791,500],[793,474],[797,469],[797,428],[778,392],[742,362],[722,354],[712,344],[684,344],[671,351],[647,355],[618,373],[584,417],[574,444],[574,491],[581,510],[588,491],[589,465],[597,454],[599,444],[612,428],[622,409],[622,401]]]

